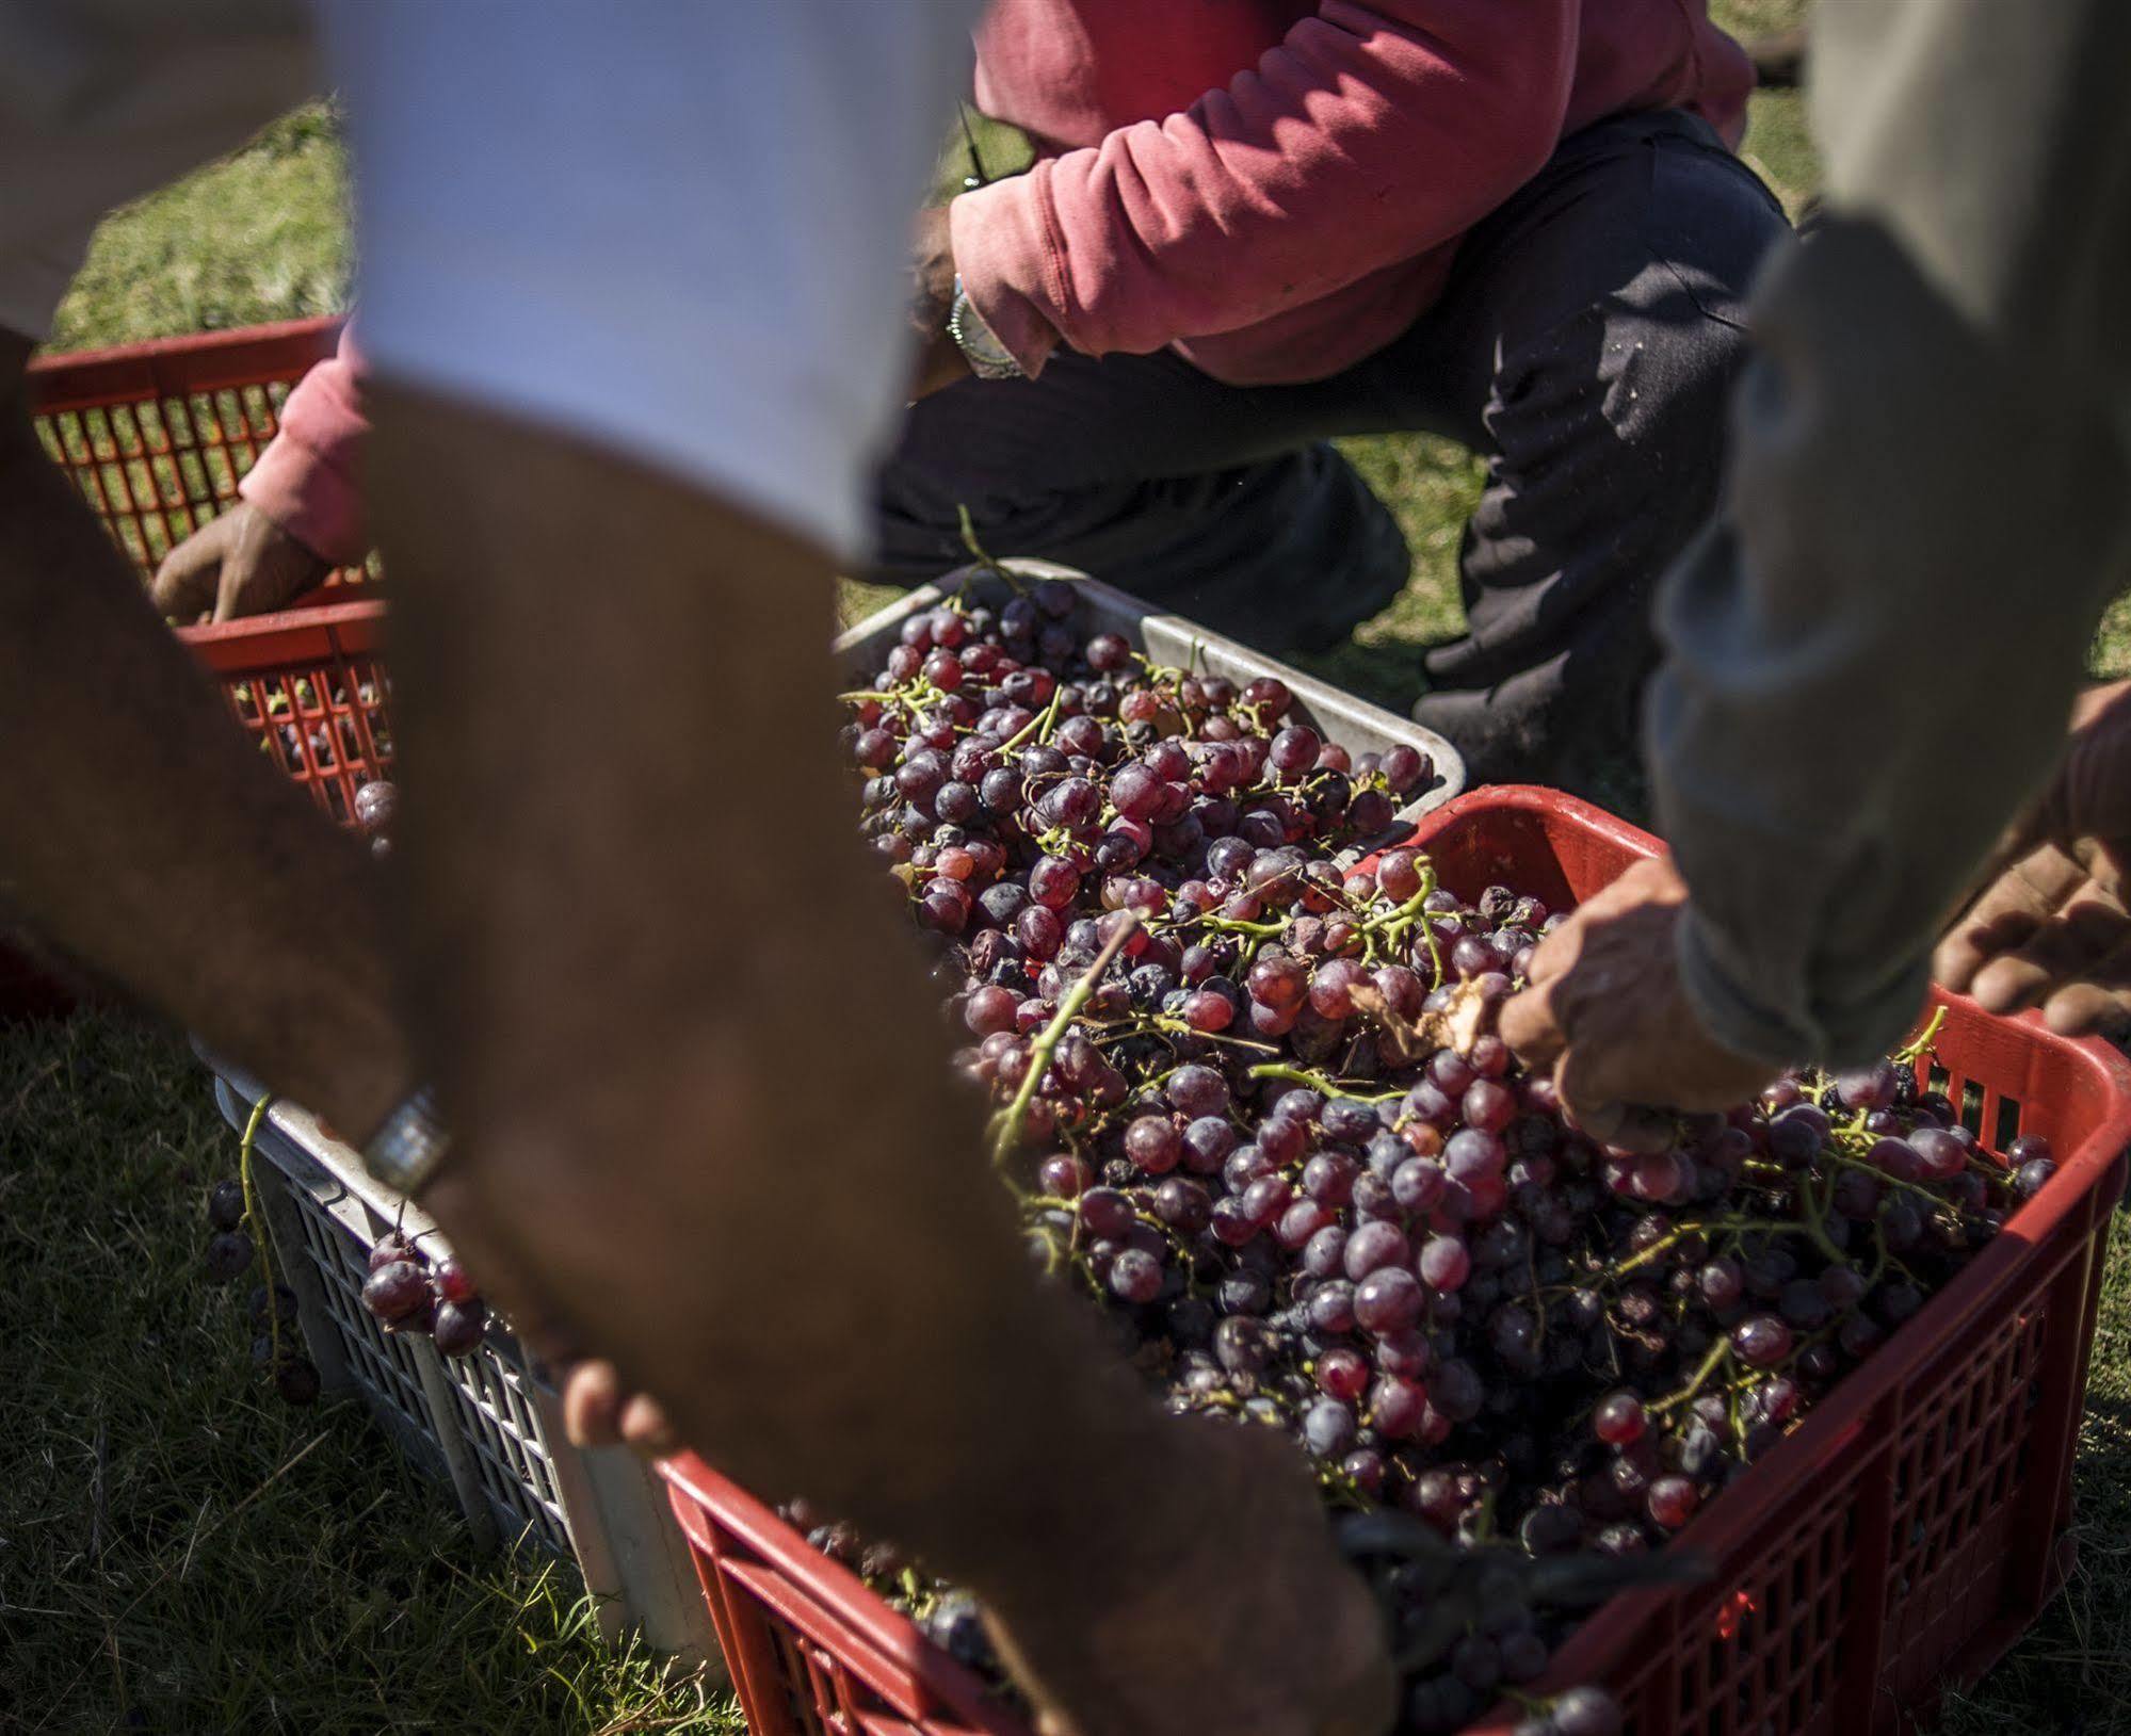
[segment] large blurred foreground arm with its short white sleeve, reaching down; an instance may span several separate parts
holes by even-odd
[[[518,1274],[516,1316],[609,1357],[697,1451],[989,1600],[1087,1736],[1181,1727],[1206,1693],[1240,1732],[1364,1730],[1383,1640],[1306,1478],[1172,1427],[1025,1270],[850,824],[823,637],[906,383],[893,198],[944,107],[912,77],[925,34],[827,0],[678,9],[703,53],[646,53],[650,17],[477,58],[458,11],[409,9],[345,64],[394,863],[458,1135],[430,1203]],[[808,77],[765,94],[750,36]],[[814,145],[776,187],[744,149],[765,100]],[[467,111],[501,119],[409,124]],[[1249,1632],[1313,1661],[1208,1687]]]

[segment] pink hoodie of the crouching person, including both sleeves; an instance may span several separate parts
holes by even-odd
[[[1737,143],[1752,83],[1705,0],[993,0],[976,100],[1040,160],[955,200],[955,262],[1029,373],[1063,343],[1321,379],[1430,307],[1562,136],[1692,109]],[[362,432],[343,343],[245,498],[360,558]]]

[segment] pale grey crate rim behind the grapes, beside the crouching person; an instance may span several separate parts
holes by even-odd
[[[1279,675],[1296,697],[1294,716],[1311,724],[1325,741],[1338,741],[1349,754],[1381,754],[1398,743],[1428,754],[1436,769],[1434,782],[1398,809],[1394,820],[1398,831],[1409,831],[1430,807],[1441,807],[1464,790],[1464,756],[1432,728],[1424,728],[1411,718],[1400,718],[1381,705],[1334,688],[1330,682],[1289,669],[1279,658],[1253,652],[1249,645],[1185,616],[1164,616],[1149,609],[1136,596],[1127,596],[1117,586],[1106,586],[1074,567],[1059,567],[1051,560],[1002,560],[997,564],[1016,579],[1072,582],[1080,588],[1083,626],[1093,633],[1121,633],[1134,650],[1144,652],[1155,662],[1225,675],[1236,686],[1255,682],[1259,675]],[[835,641],[835,654],[844,675],[861,682],[872,677],[897,641],[904,620],[946,601],[965,582],[972,594],[989,605],[1010,594],[1008,584],[985,567],[957,567],[938,584],[912,590],[842,633]]]

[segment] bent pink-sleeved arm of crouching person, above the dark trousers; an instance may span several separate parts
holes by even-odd
[[[1568,104],[1573,0],[1328,0],[1161,121],[965,192],[953,253],[1029,373],[1302,307],[1498,207]]]

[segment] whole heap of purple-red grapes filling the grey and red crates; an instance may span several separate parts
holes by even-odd
[[[1986,1152],[1918,1088],[1922,1044],[1656,1154],[1594,1144],[1492,1031],[1560,912],[1353,848],[1426,758],[1349,756],[1281,682],[1151,665],[1074,605],[906,620],[846,694],[863,831],[936,937],[1031,1257],[1174,1410],[1291,1434],[1334,1512],[1447,1551],[1379,1534],[1370,1572],[1402,1730],[1455,1732],[1547,1668],[1575,1602],[1547,1587],[1637,1572],[2050,1152]],[[948,1589],[882,1589],[980,1636]],[[1534,1736],[1620,1727],[1596,1689],[1526,1706]]]

